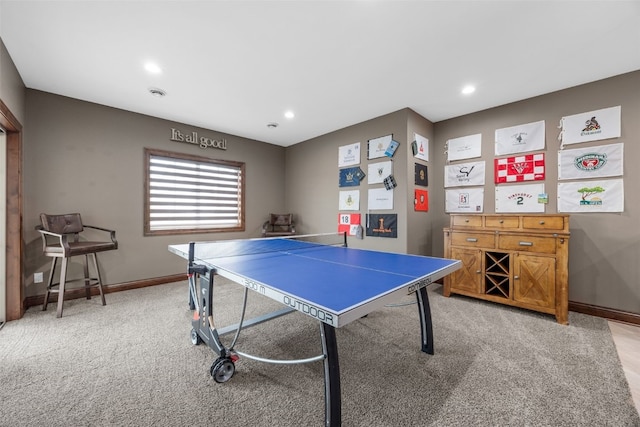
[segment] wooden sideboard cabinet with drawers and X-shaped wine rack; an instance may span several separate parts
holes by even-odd
[[[462,268],[445,297],[466,295],[568,319],[569,215],[451,214],[444,256]]]

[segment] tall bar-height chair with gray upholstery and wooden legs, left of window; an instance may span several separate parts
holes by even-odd
[[[47,293],[44,297],[42,310],[47,309],[49,295],[51,293],[57,293],[57,317],[62,317],[65,285],[71,282],[84,282],[87,299],[91,299],[91,288],[97,287],[100,291],[100,297],[102,298],[102,305],[106,305],[96,253],[118,249],[116,232],[106,228],[83,224],[79,213],[63,215],[48,215],[42,213],[40,214],[40,222],[41,225],[37,226],[36,229],[42,237],[42,250],[45,256],[52,257],[51,271],[49,272],[49,281],[47,282]],[[86,234],[82,234],[85,228],[96,230],[93,232],[95,234],[104,234],[104,241],[86,240]],[[72,280],[67,279],[69,258],[81,255],[84,258],[84,277]],[[95,277],[89,275],[89,256],[91,256],[93,261]],[[60,280],[54,283],[53,278],[59,258],[62,259]]]

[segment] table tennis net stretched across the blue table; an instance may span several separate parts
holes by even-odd
[[[318,249],[326,246],[346,246],[346,235],[342,233],[305,234],[290,237],[264,239],[218,240],[210,242],[192,242],[189,258],[194,261],[225,257],[286,253]]]

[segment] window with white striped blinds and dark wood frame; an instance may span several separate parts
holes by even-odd
[[[244,163],[145,149],[144,234],[244,231]]]

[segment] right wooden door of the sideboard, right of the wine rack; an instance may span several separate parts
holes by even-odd
[[[555,258],[516,254],[513,283],[515,301],[553,309],[556,303]]]

